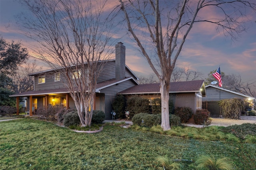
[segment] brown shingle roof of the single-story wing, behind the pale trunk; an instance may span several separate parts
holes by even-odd
[[[205,95],[204,80],[186,82],[170,82],[169,93],[202,92]],[[157,94],[160,93],[160,83],[140,84],[128,88],[118,94]]]

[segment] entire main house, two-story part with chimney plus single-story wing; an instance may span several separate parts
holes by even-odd
[[[125,46],[123,43],[116,44],[116,58],[104,64],[104,71],[97,79],[96,97],[94,99],[95,110],[102,110],[106,114],[106,119],[111,119],[112,102],[117,94],[132,95],[141,94],[145,98],[160,98],[160,84],[141,84],[136,80],[138,77],[125,64]],[[39,107],[45,106],[65,106],[75,109],[74,100],[70,92],[64,86],[65,78],[58,69],[44,70],[29,74],[34,76],[34,90],[13,94],[16,97],[17,114],[19,114],[19,98],[27,97],[26,108],[29,115]],[[187,82],[171,82],[170,95],[174,99],[175,107],[202,108],[202,97],[206,96],[204,80]]]

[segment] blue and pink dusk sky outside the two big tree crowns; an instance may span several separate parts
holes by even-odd
[[[30,49],[33,41],[19,33],[15,16],[24,11],[18,1],[0,0],[0,36],[8,42],[20,41]],[[214,11],[204,11],[201,15],[217,15]],[[247,31],[238,41],[232,41],[223,33],[218,33],[214,25],[195,24],[184,44],[177,66],[198,70],[206,78],[208,73],[220,66],[221,71],[240,74],[244,82],[256,81],[256,14],[247,16]],[[123,35],[121,35],[123,33]],[[146,59],[135,48],[136,45],[125,31],[120,31],[120,41],[126,46],[126,65],[138,75],[153,73]]]

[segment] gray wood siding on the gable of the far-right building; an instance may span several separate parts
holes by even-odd
[[[203,97],[203,101],[219,101],[222,99],[230,98],[246,99],[246,97],[244,96],[240,96],[238,94],[234,94],[225,90],[220,90],[209,86],[206,88],[206,97]]]

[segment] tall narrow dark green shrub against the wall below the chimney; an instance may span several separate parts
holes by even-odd
[[[116,117],[124,118],[124,109],[125,109],[125,98],[123,95],[117,95],[114,102],[112,103],[112,107],[116,112]]]

